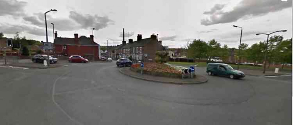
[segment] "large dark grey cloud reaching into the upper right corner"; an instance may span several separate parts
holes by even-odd
[[[247,19],[247,17],[255,17],[266,15],[269,12],[281,11],[292,7],[292,1],[281,2],[279,0],[242,0],[239,5],[235,6],[232,11],[223,12],[216,4],[211,11],[204,14],[210,15],[210,18],[201,19],[201,24],[208,26],[219,23],[235,22],[238,19]]]

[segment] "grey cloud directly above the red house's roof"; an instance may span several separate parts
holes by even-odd
[[[114,21],[110,20],[108,16],[82,15],[75,11],[70,11],[69,18],[79,23],[83,29],[95,28],[95,30],[100,30],[114,24]]]

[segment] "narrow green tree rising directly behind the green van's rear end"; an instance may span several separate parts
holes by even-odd
[[[215,39],[208,41],[207,54],[210,57],[220,56],[221,44]]]

